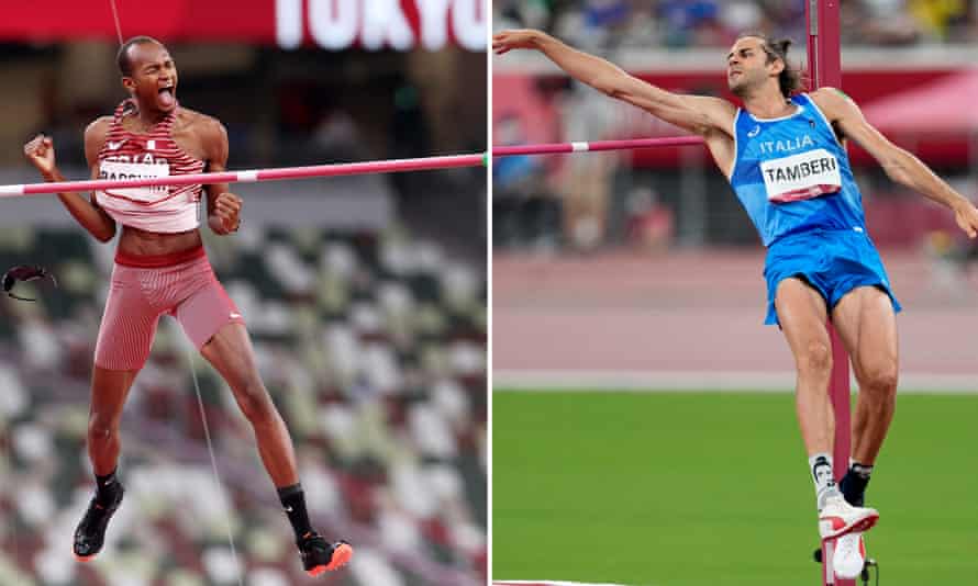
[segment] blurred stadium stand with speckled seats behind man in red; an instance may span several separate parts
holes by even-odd
[[[349,43],[327,52],[310,40],[285,49],[276,46],[274,18],[253,23],[271,31],[267,40],[245,38],[255,26],[235,24],[259,3],[277,5],[247,2],[229,19],[210,10],[221,2],[197,3],[197,12],[170,21],[156,18],[156,8],[119,2],[125,33],[158,35],[171,49],[180,102],[227,127],[229,168],[485,149],[486,55],[453,43],[464,36],[457,19],[431,50]],[[98,8],[104,15],[90,19],[99,30],[71,30],[74,7],[56,0],[46,10],[57,19],[34,19],[36,30],[11,24],[26,8],[0,24],[0,183],[37,181],[21,148],[40,131],[54,136],[66,176],[87,177],[82,131],[125,97],[108,2]],[[153,18],[143,29],[145,14]],[[187,36],[209,18],[223,25],[214,38]],[[418,14],[409,24],[420,47]],[[51,33],[56,26],[69,32]],[[293,433],[314,521],[357,552],[348,570],[319,582],[484,583],[486,171],[232,191],[245,201],[242,230],[219,238],[204,228],[208,253]],[[0,207],[0,264],[40,263],[59,282],[41,285],[36,303],[0,300],[0,585],[237,584],[187,342],[168,318],[123,418],[126,503],[100,559],[71,557],[92,487],[89,376],[114,243],[80,232],[54,198]],[[210,367],[195,357],[192,368],[234,511],[244,584],[311,583],[247,422]]]

